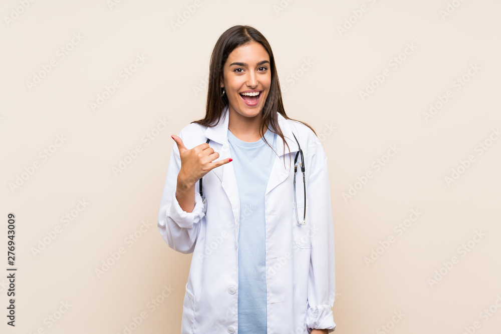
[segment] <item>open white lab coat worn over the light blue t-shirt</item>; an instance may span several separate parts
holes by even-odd
[[[191,123],[178,134],[191,149],[210,139],[220,159],[230,157],[227,140],[228,108],[217,126]],[[310,328],[334,331],[332,306],[335,295],[334,226],[329,190],[327,156],[317,136],[304,124],[278,114],[280,128],[289,144],[277,136],[277,153],[265,195],[266,288],[268,334],[305,334]],[[306,225],[300,226],[294,205],[294,157],[298,145],[306,167]],[[271,143],[270,143],[271,144]],[[292,158],[292,162],[291,162]],[[301,157],[298,157],[298,161]],[[238,224],[240,201],[231,162],[203,177],[207,199],[204,215],[198,185],[195,207],[185,212],[175,191],[181,167],[177,145],[172,145],[158,228],[169,247],[191,253],[181,321],[182,334],[238,332]],[[298,166],[297,202],[303,217],[303,176]]]

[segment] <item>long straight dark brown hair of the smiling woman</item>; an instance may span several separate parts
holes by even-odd
[[[205,107],[205,117],[203,119],[193,121],[191,123],[197,123],[206,127],[213,127],[221,118],[222,111],[224,107],[228,105],[228,98],[226,94],[221,97],[222,90],[220,87],[220,82],[223,80],[223,67],[228,59],[229,54],[239,46],[246,45],[249,43],[257,42],[260,43],[268,52],[270,56],[270,70],[271,70],[271,86],[270,93],[266,99],[266,103],[261,111],[261,124],[260,124],[260,135],[263,137],[265,142],[271,147],[270,143],[264,138],[263,129],[265,127],[266,121],[268,120],[268,125],[271,129],[274,129],[280,138],[284,141],[284,154],[285,145],[287,145],[289,152],[291,149],[289,144],[285,141],[284,134],[280,129],[277,113],[280,113],[285,119],[293,120],[289,118],[285,112],[284,104],[282,102],[282,92],[280,90],[279,77],[277,75],[277,68],[275,66],[275,58],[273,57],[272,48],[266,40],[266,38],[258,30],[250,26],[233,26],[226,30],[217,40],[212,55],[210,56],[209,65],[209,81],[207,90],[207,103]],[[296,120],[294,120],[296,121]],[[317,133],[313,128],[306,124],[305,122],[298,121],[309,127],[315,135]],[[273,149],[273,148],[272,148]],[[284,160],[285,163],[285,160]]]

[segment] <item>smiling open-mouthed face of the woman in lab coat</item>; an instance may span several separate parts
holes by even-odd
[[[270,56],[261,44],[253,42],[234,49],[223,66],[221,83],[228,97],[230,113],[261,117],[271,81]],[[259,95],[248,96],[248,93],[256,95],[256,92]]]

